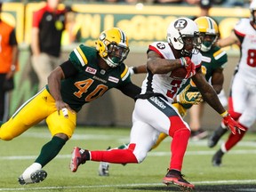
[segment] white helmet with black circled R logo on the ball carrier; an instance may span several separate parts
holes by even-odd
[[[174,49],[180,50],[183,56],[191,56],[198,53],[201,47],[201,38],[196,22],[188,18],[173,20],[167,29],[167,42]],[[186,50],[186,44],[193,44],[193,50]]]

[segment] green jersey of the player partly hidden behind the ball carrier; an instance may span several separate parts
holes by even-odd
[[[202,66],[201,70],[206,78],[209,81],[214,73],[214,70],[217,68],[225,68],[225,65],[228,63],[228,55],[227,52],[220,49],[219,46],[212,46],[212,49],[209,52],[201,52],[202,54]],[[188,89],[188,92],[198,92],[196,88],[196,84],[194,84],[193,80],[190,78],[183,84],[180,88],[180,92],[186,87],[188,84],[191,84],[191,87]],[[179,93],[180,93],[179,92]],[[191,108],[190,104],[182,104],[184,108]]]

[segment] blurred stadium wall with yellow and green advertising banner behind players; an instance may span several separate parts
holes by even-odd
[[[30,31],[32,14],[43,6],[44,1],[4,1],[2,17],[16,26],[16,35],[20,46],[20,71],[15,76],[16,88],[12,92],[12,114],[25,100],[37,90],[37,78],[30,64]],[[153,41],[165,41],[169,22],[180,16],[194,18],[200,8],[188,4],[106,4],[96,1],[62,1],[63,8],[70,6],[75,12],[68,14],[67,30],[62,40],[62,57],[68,59],[68,52],[77,44],[94,45],[95,39],[106,28],[122,28],[130,38],[131,52],[125,64],[138,66],[146,63],[148,44]],[[228,36],[236,22],[249,17],[246,6],[213,6],[209,12],[220,25],[221,37]],[[70,37],[72,36],[72,37]],[[239,60],[236,46],[226,48],[228,66],[224,70],[224,90],[228,96],[228,85]],[[145,75],[132,76],[135,84],[140,85]],[[132,124],[133,100],[112,90],[100,100],[84,106],[78,114],[78,124],[100,126],[130,126]],[[186,117],[188,118],[188,116]],[[204,111],[203,126],[213,129],[220,124],[220,116],[208,106]]]

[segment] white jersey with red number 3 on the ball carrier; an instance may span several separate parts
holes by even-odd
[[[155,42],[149,45],[148,50],[154,51],[159,54],[163,59],[175,60],[170,44],[165,42]],[[202,55],[200,52],[193,54],[191,58],[195,63],[196,68],[201,67]],[[171,77],[171,71],[167,74],[153,75],[148,71],[148,75],[144,79],[141,87],[141,94],[147,92],[154,92],[162,94],[168,101],[172,102],[179,91],[182,84],[185,84],[187,79],[176,79]]]

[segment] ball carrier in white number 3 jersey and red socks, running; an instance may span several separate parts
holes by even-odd
[[[80,164],[89,160],[114,164],[140,164],[156,143],[159,133],[164,132],[172,137],[172,157],[169,171],[163,180],[164,184],[173,183],[185,190],[195,188],[181,174],[190,129],[177,109],[172,106],[172,99],[180,86],[191,77],[204,100],[223,116],[231,132],[236,134],[240,132],[240,128],[243,129],[223,108],[216,92],[206,82],[201,71],[200,45],[201,38],[196,22],[188,18],[173,20],[167,29],[167,42],[156,42],[148,47],[148,74],[135,102],[129,147],[107,151],[89,151],[76,147],[70,162],[71,172],[76,172]],[[175,73],[177,69],[180,73]],[[185,71],[183,75],[182,71]]]

